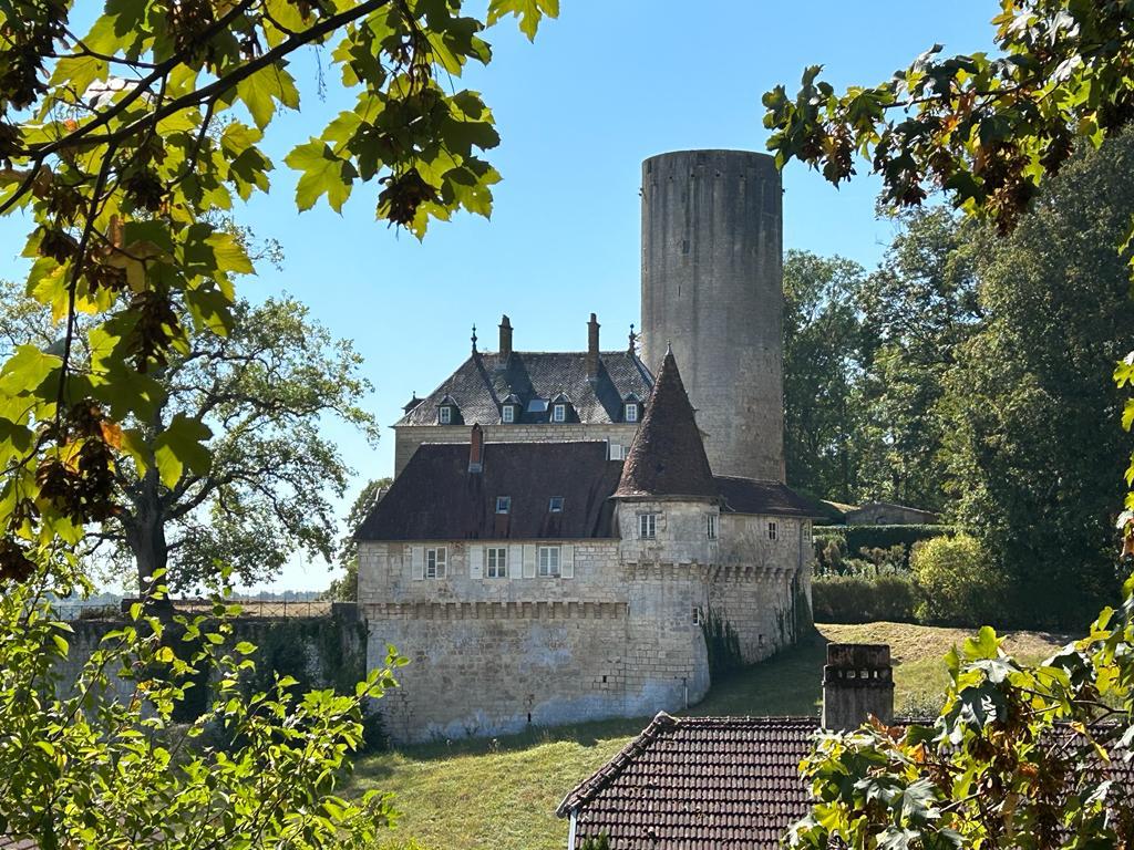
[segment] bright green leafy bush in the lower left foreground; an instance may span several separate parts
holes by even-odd
[[[248,695],[255,647],[235,641],[218,597],[213,617],[175,622],[135,605],[76,673],[71,627],[43,601],[60,589],[41,573],[0,596],[0,835],[45,850],[372,845],[388,796],[337,789],[364,704],[404,658],[352,694],[298,695],[277,675]],[[194,681],[203,711],[178,725]]]

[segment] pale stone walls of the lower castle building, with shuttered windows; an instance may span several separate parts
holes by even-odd
[[[646,527],[643,513],[654,517]],[[616,534],[361,541],[367,661],[381,664],[388,644],[409,658],[401,687],[380,704],[391,738],[682,709],[709,688],[706,612],[735,629],[745,662],[793,644],[797,623],[810,620],[809,519],[721,515],[708,500],[627,500]],[[541,547],[558,550],[558,576],[541,575],[553,560]],[[440,549],[443,575],[429,558]],[[503,550],[505,577],[489,575],[490,549]],[[492,555],[496,571],[499,560]],[[430,564],[435,577],[426,577]]]

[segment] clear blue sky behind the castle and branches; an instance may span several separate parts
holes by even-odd
[[[995,0],[909,2],[836,0],[712,5],[672,0],[562,0],[562,14],[530,44],[510,23],[489,39],[494,59],[458,87],[483,93],[502,137],[490,155],[503,175],[491,221],[463,215],[434,224],[423,243],[374,221],[375,187],[356,188],[336,214],[320,204],[298,214],[295,177],[284,165],[353,99],[319,62],[294,62],[304,96],[298,114],[272,126],[272,193],[240,213],[260,236],[279,239],[287,258],[264,267],[242,295],[287,291],[365,357],[374,393],[364,400],[384,425],[413,391],[432,390],[466,356],[469,329],[496,348],[500,314],[511,317],[518,350],[581,350],[591,312],[603,347],[621,348],[638,314],[641,162],[665,151],[762,151],[760,96],[777,83],[794,93],[803,68],[826,66],[836,87],[877,83],[934,42],[949,52],[991,50]],[[862,163],[860,170],[865,170]],[[792,163],[784,175],[785,248],[841,254],[874,264],[892,226],[874,218],[878,182],[860,177],[836,190]],[[0,274],[23,277],[22,222],[0,228]],[[390,474],[393,436],[370,448],[328,423],[358,471],[346,504],[371,477]],[[344,511],[345,512],[345,511]],[[288,566],[273,589],[314,589],[324,564]]]

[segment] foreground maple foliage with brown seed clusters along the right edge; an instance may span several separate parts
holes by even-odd
[[[934,48],[873,88],[836,96],[811,68],[795,102],[782,86],[765,94],[780,164],[798,155],[838,182],[858,152],[882,176],[887,203],[916,206],[937,186],[1010,230],[1076,136],[1099,144],[1134,118],[1134,9],[1090,0],[1001,8],[1002,58],[939,59]],[[1134,381],[1134,355],[1115,380]],[[1134,399],[1123,407],[1128,431]],[[1126,500],[1134,507],[1134,495]],[[1131,519],[1119,521],[1134,550]],[[818,804],[790,843],[1128,847],[1134,817],[1106,765],[1134,742],[1132,647],[1134,579],[1118,610],[1103,609],[1088,637],[1041,665],[1006,656],[985,627],[947,656],[951,685],[936,723],[874,723],[820,740],[803,765]]]

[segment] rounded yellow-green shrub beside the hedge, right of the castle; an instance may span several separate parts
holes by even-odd
[[[922,622],[981,626],[1004,620],[1002,585],[975,537],[933,537],[916,545],[909,561],[922,592]]]

